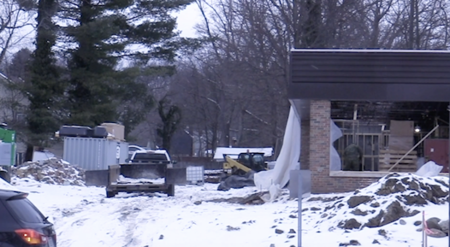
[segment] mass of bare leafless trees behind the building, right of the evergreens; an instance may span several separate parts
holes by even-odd
[[[292,47],[448,46],[445,0],[196,3],[203,14],[197,31],[205,44],[184,61],[190,74],[184,74],[179,84],[189,95],[184,108],[192,120],[187,124],[203,128],[211,148],[234,144],[233,134],[238,145],[276,146],[287,116]]]

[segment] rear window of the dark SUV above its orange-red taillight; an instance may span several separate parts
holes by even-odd
[[[28,223],[42,223],[43,215],[33,206],[28,199],[7,200],[6,203],[17,217]]]

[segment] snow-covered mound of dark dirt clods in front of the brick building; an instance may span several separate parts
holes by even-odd
[[[448,200],[448,177],[421,177],[392,173],[354,193],[335,197],[312,197],[323,208],[311,207],[319,213],[316,224],[328,221],[344,229],[379,227],[421,212],[425,205],[444,204]],[[442,215],[447,217],[447,215]]]

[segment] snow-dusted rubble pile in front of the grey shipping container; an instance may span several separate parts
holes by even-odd
[[[44,183],[84,186],[84,170],[55,157],[13,166],[12,175]]]

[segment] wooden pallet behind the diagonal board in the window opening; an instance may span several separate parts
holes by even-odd
[[[400,150],[379,150],[379,171],[387,171],[398,159],[407,151]],[[417,152],[411,151],[390,171],[415,172],[417,170]]]

